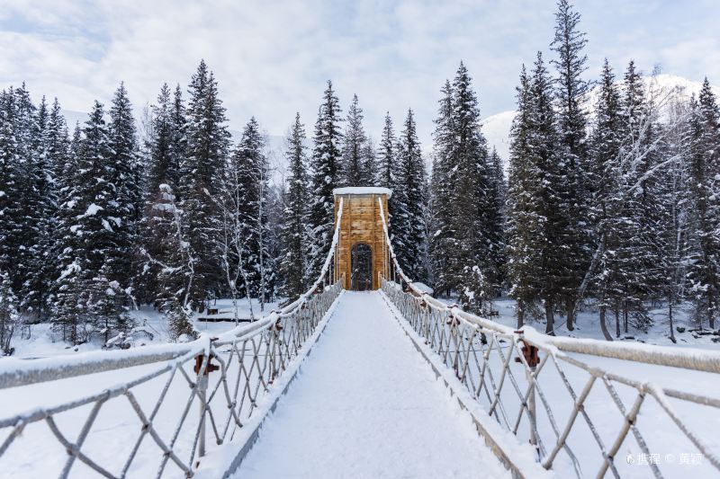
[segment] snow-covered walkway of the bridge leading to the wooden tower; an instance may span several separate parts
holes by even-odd
[[[379,292],[346,292],[235,477],[509,477]]]

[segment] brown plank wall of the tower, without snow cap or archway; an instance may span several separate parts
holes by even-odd
[[[352,274],[353,246],[365,243],[373,250],[373,289],[380,288],[379,273],[387,277],[387,248],[383,234],[383,221],[380,217],[378,198],[383,201],[385,221],[388,220],[388,198],[384,194],[341,195],[343,198],[343,218],[340,225],[340,239],[336,252],[335,268],[338,277],[345,274],[344,288],[350,288]],[[340,195],[335,197],[335,218],[338,221]]]

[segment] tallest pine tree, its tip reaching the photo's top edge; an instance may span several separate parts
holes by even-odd
[[[579,31],[581,15],[573,10],[572,2],[560,0],[555,13],[555,36],[552,49],[557,53],[552,64],[557,69],[555,90],[557,103],[557,129],[560,136],[558,159],[563,170],[563,184],[558,185],[562,195],[563,214],[570,218],[561,232],[558,247],[565,252],[566,274],[563,281],[563,299],[567,314],[567,328],[572,331],[577,292],[587,270],[589,225],[587,217],[587,118],[584,102],[589,85],[582,79],[587,70],[588,58],[583,53],[588,40]],[[560,190],[562,188],[562,191]]]

